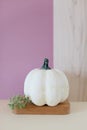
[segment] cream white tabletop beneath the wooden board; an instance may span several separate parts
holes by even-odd
[[[0,130],[87,130],[87,102],[71,102],[68,115],[17,115],[0,100]]]

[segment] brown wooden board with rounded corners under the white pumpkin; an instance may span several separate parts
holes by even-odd
[[[14,109],[15,114],[42,114],[42,115],[65,115],[70,113],[70,103],[65,101],[57,106],[36,106],[34,104],[27,104],[26,108]]]

